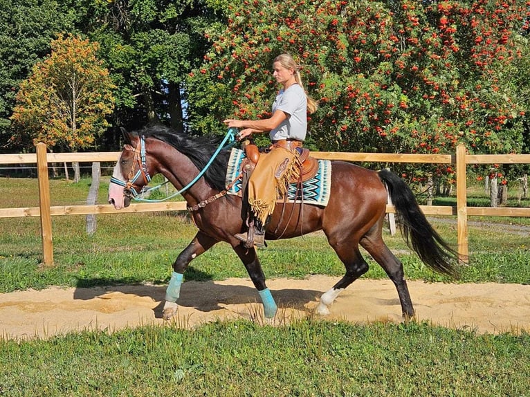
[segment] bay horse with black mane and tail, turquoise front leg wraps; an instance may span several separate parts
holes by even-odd
[[[226,194],[226,169],[230,150],[219,147],[219,136],[191,137],[162,125],[122,131],[125,145],[113,169],[109,203],[116,210],[127,207],[151,176],[160,173],[188,203],[198,232],[176,257],[167,286],[163,318],[176,315],[183,274],[190,262],[224,241],[243,262],[262,299],[265,320],[277,313],[266,286],[255,248],[235,238],[247,225],[242,216],[243,199]],[[213,154],[217,154],[212,159]],[[266,240],[290,239],[322,230],[345,266],[345,275],[320,297],[316,313],[327,315],[338,295],[367,272],[360,246],[385,270],[396,287],[404,320],[414,317],[401,261],[383,241],[387,200],[394,204],[408,246],[421,261],[438,273],[457,277],[458,253],[432,228],[421,212],[410,187],[396,174],[369,170],[343,161],[331,162],[331,192],[326,206],[279,201],[266,226]],[[289,216],[284,216],[289,214]]]

